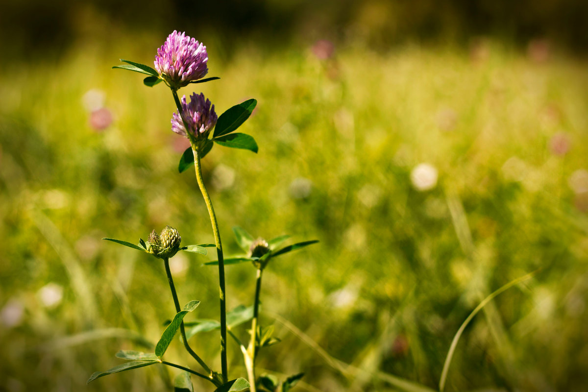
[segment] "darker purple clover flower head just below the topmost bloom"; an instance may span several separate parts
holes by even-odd
[[[204,94],[193,93],[190,103],[186,103],[186,96],[182,96],[182,113],[173,113],[172,130],[179,135],[186,136],[186,128],[182,121],[188,123],[188,132],[195,139],[207,139],[211,129],[214,128],[218,116],[215,113],[215,105],[204,98]]]

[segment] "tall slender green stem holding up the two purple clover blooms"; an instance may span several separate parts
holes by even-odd
[[[188,132],[188,124],[186,120],[183,118],[182,115],[182,104],[178,98],[178,92],[172,89],[173,99],[176,102],[176,106],[178,107],[178,113],[182,118],[184,126],[186,128],[186,133],[188,135],[188,139],[190,140],[190,144],[192,145],[192,152],[194,154],[194,166],[196,170],[196,180],[198,181],[198,187],[200,188],[200,192],[202,193],[202,197],[204,197],[204,202],[206,203],[206,208],[208,209],[208,214],[211,217],[211,224],[212,224],[212,232],[215,236],[215,243],[216,243],[216,255],[218,257],[219,262],[219,289],[220,289],[220,368],[222,372],[222,380],[223,383],[228,381],[228,368],[227,368],[227,361],[226,361],[226,299],[225,299],[225,259],[222,253],[222,244],[220,243],[220,233],[219,233],[219,224],[216,220],[215,210],[212,207],[211,197],[208,195],[208,190],[206,190],[206,186],[204,185],[204,179],[202,178],[202,167],[200,164],[200,155],[198,154],[198,147],[196,146],[196,141]]]

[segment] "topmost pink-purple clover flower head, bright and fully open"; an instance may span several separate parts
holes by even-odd
[[[187,86],[208,73],[206,46],[193,38],[173,31],[155,56],[155,69],[173,89]]]

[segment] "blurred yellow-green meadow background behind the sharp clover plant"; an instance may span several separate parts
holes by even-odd
[[[221,78],[181,94],[218,113],[259,102],[242,126],[259,153],[203,160],[225,254],[235,225],[320,240],[266,270],[260,322],[282,342],[258,373],[304,372],[300,391],[437,390],[470,312],[538,270],[467,326],[445,390],[585,390],[587,15],[572,0],[6,2],[0,390],[172,389],[159,366],[85,382],[175,313],[162,263],[101,238],[172,225],[213,242],[192,170],[178,174],[171,94],[111,69],[151,65],[174,29]],[[180,302],[202,301],[192,318],[218,317],[206,261],[172,259]],[[229,309],[252,304],[255,269],[226,273]],[[192,338],[215,368],[218,341]],[[179,341],[167,356],[198,368]]]

